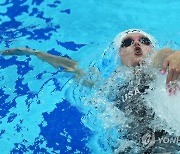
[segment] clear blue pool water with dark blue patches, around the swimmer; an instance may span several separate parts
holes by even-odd
[[[129,28],[154,35],[159,47],[179,49],[179,9],[178,0],[1,0],[0,50],[38,49],[86,70]],[[87,103],[95,91],[33,56],[0,56],[0,69],[0,153],[113,153],[119,123],[106,122],[104,111]]]

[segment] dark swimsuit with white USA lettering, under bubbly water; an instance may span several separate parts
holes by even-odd
[[[163,129],[153,131],[153,126],[151,125],[151,122],[155,120],[155,113],[148,106],[144,96],[148,94],[149,90],[153,90],[151,87],[153,80],[153,75],[140,72],[124,83],[123,86],[116,85],[116,96],[113,98],[113,101],[115,102],[115,106],[123,111],[125,117],[128,118],[126,125],[120,132],[125,139],[137,143],[139,147],[138,153],[180,151],[180,147],[177,144],[159,144],[155,142],[154,145],[146,148],[141,142],[142,136],[146,133],[153,132],[156,140],[163,136],[170,137]],[[133,147],[126,147],[120,153],[133,153],[132,150]]]

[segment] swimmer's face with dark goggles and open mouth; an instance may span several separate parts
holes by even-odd
[[[137,66],[152,50],[152,44],[146,36],[132,33],[123,38],[119,54],[126,66]]]

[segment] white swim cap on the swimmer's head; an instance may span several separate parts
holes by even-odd
[[[155,44],[156,44],[156,39],[151,36],[150,34],[147,34],[146,32],[142,31],[141,29],[128,29],[128,30],[125,30],[123,32],[120,32],[114,39],[113,41],[113,44],[114,44],[114,47],[119,50],[119,48],[121,47],[121,44],[122,44],[122,40],[124,37],[126,37],[128,34],[131,34],[131,33],[141,33],[143,34],[144,36],[148,37],[149,40],[151,41],[152,43],[152,46],[155,47]]]

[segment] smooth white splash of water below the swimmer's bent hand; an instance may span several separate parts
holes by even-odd
[[[156,115],[164,121],[162,125],[160,122],[156,123],[156,127],[163,127],[169,133],[180,135],[180,91],[176,94],[170,94],[166,87],[167,75],[157,76],[153,83],[154,90],[149,91],[145,96],[147,102],[154,109]]]

